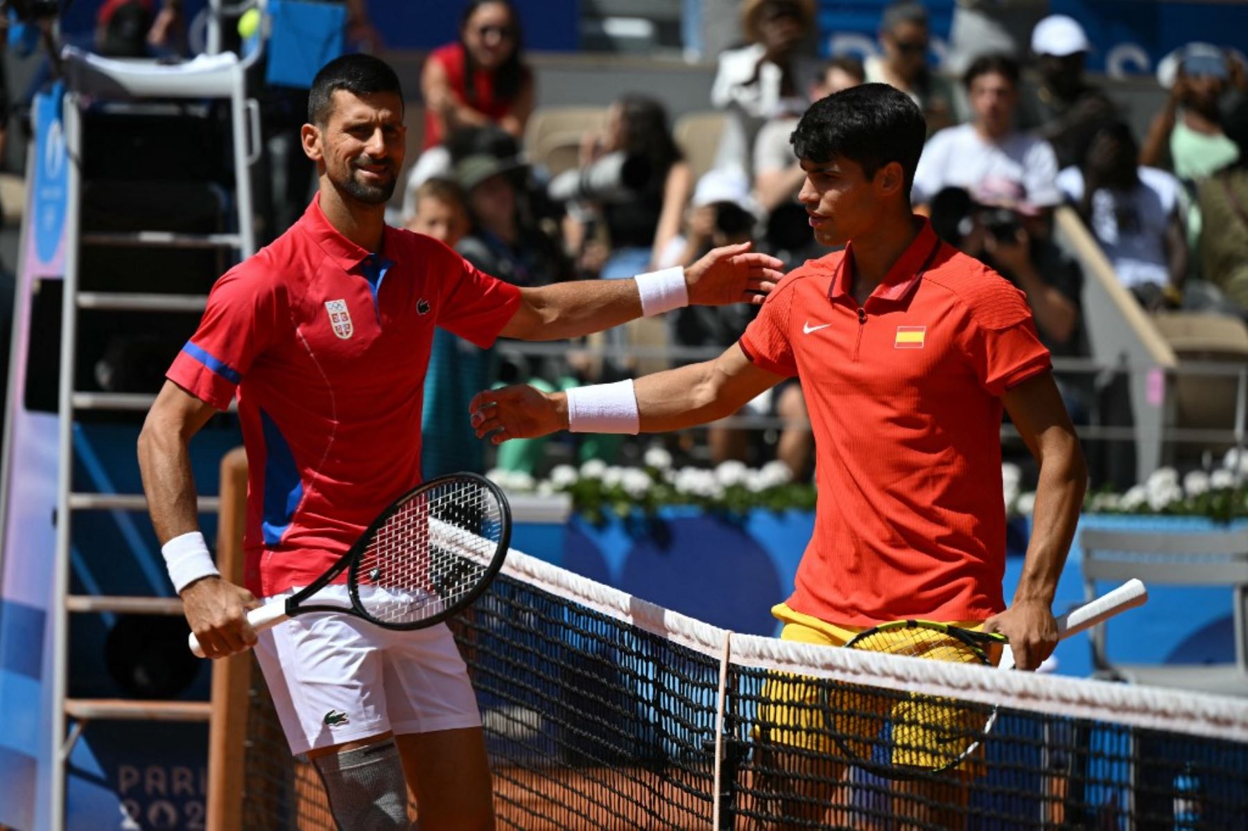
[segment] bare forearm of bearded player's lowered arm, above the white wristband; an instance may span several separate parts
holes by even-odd
[[[139,470],[161,545],[200,529],[191,454],[180,430],[149,418],[139,435]]]

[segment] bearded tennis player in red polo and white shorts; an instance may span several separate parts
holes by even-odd
[[[780,262],[738,246],[633,281],[520,289],[386,226],[406,137],[389,66],[367,55],[324,66],[308,122],[317,198],[217,282],[144,425],[152,524],[205,653],[256,646],[291,751],[314,761],[339,827],[407,831],[411,787],[424,831],[490,829],[480,715],[446,626],[392,633],[313,614],[257,643],[246,610],[307,585],[419,483],[434,327],[480,347],[577,337],[688,302],[761,302]],[[212,564],[187,453],[236,394],[250,463],[246,589]]]

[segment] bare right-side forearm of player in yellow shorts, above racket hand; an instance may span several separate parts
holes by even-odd
[[[1037,448],[1040,482],[1036,485],[1031,542],[1015,591],[1016,604],[1040,600],[1052,605],[1083,507],[1087,467],[1078,439],[1072,432],[1060,428],[1051,428],[1050,433]]]

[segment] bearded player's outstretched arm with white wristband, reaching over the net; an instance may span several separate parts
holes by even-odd
[[[782,262],[750,251],[750,243],[715,248],[694,265],[638,275],[633,279],[582,279],[520,292],[504,338],[560,341],[593,334],[641,316],[681,306],[761,303],[784,275]]]

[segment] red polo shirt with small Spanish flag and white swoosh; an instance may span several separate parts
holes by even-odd
[[[982,620],[1005,608],[1000,396],[1050,368],[1022,292],[922,230],[859,308],[852,243],[805,263],[741,337],[797,376],[815,534],[794,611],[829,623]]]

